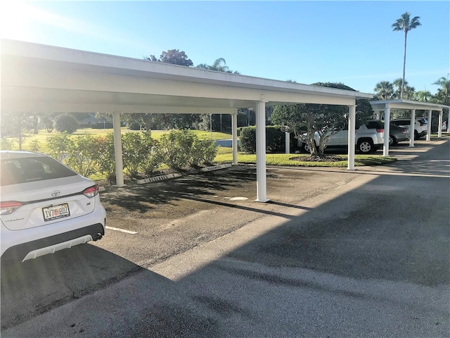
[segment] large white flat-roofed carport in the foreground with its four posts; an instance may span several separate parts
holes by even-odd
[[[1,39],[1,111],[111,113],[116,184],[124,186],[121,113],[230,114],[233,164],[237,164],[237,110],[255,108],[257,198],[266,196],[265,108],[278,104],[349,107],[354,130],[356,99],[371,94],[220,73],[136,58]],[[348,169],[354,170],[354,133]]]

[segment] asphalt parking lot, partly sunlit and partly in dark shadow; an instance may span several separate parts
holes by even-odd
[[[448,337],[449,139],[391,154],[107,189],[127,232],[2,265],[1,335]]]

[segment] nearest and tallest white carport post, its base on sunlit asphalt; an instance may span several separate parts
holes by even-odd
[[[256,104],[256,201],[266,202],[266,103]]]

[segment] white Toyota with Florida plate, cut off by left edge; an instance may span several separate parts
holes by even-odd
[[[94,181],[30,151],[0,151],[1,261],[27,261],[105,234]]]

